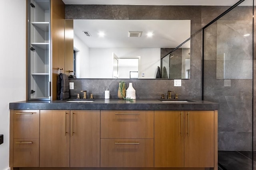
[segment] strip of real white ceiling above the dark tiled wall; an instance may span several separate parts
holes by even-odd
[[[62,0],[65,4],[96,5],[202,5],[232,6],[238,0]],[[252,5],[252,0],[245,0],[241,5]]]

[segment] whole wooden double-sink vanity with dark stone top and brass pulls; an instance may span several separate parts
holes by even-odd
[[[10,167],[218,169],[218,104],[88,101],[10,103]]]

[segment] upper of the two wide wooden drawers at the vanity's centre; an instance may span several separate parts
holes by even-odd
[[[100,138],[154,138],[154,111],[104,110],[100,121]]]

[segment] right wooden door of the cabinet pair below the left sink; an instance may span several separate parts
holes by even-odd
[[[71,111],[70,167],[100,166],[100,111]]]

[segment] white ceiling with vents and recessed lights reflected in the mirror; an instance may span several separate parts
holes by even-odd
[[[100,31],[106,35],[99,37]],[[128,31],[142,35],[128,37]],[[153,36],[147,37],[148,32]],[[190,37],[190,20],[74,20],[74,34],[89,48],[176,48]]]

